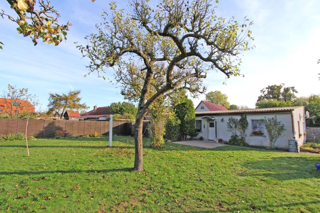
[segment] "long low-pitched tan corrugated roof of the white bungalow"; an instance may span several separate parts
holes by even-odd
[[[219,110],[219,111],[206,111],[196,112],[196,115],[207,115],[207,114],[238,114],[238,113],[259,113],[259,112],[289,112],[297,109],[301,106],[294,107],[272,107],[272,108],[261,108],[261,109],[246,109],[246,110]]]

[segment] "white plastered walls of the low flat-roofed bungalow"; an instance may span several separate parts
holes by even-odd
[[[249,123],[248,129],[246,131],[246,142],[251,145],[251,146],[258,146],[258,147],[269,147],[269,137],[268,133],[265,130],[265,134],[258,136],[258,135],[252,135],[252,120],[260,120],[261,118],[267,117],[271,118],[274,117],[275,115],[277,116],[278,120],[281,121],[284,124],[285,132],[284,136],[279,137],[278,140],[275,143],[275,146],[278,148],[288,148],[288,140],[293,140],[294,135],[295,135],[295,140],[299,141],[300,146],[303,144],[303,142],[306,140],[306,136],[303,135],[304,132],[306,132],[306,127],[305,127],[305,118],[304,118],[304,108],[300,107],[295,109],[292,112],[293,115],[293,120],[294,120],[294,129],[295,129],[295,134],[292,133],[292,117],[291,117],[291,112],[276,112],[276,113],[244,113],[247,116],[247,120]],[[196,115],[196,120],[201,120],[202,125],[201,125],[201,132],[199,132],[197,137],[204,137],[204,140],[208,140],[208,119],[211,118],[204,118],[206,115]],[[231,133],[228,132],[227,130],[227,122],[230,117],[234,118],[240,118],[240,114],[212,114],[208,115],[212,118],[216,119],[216,126],[217,126],[217,135],[216,139],[223,139],[224,141],[228,141],[230,139]],[[222,121],[223,118],[223,121]],[[298,133],[298,121],[300,124],[300,132],[302,133],[302,137],[299,138],[299,133]],[[211,121],[212,122],[212,121]]]

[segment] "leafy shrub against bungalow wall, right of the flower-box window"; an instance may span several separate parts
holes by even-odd
[[[283,135],[285,131],[284,124],[281,121],[278,121],[276,115],[272,118],[264,117],[261,119],[261,122],[267,130],[269,136],[269,146],[273,149],[275,148],[276,141],[280,136]]]

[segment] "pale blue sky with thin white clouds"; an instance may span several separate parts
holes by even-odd
[[[88,106],[108,106],[124,101],[119,88],[95,74],[84,78],[88,70],[81,53],[73,42],[84,44],[84,36],[95,32],[95,23],[100,22],[99,13],[108,9],[107,0],[52,0],[60,12],[60,22],[70,21],[67,42],[59,46],[39,42],[33,46],[29,38],[16,31],[16,25],[0,19],[0,90],[8,84],[25,87],[36,94],[46,108],[49,92],[68,92],[81,89],[83,102]],[[127,1],[118,1],[119,8],[127,9]],[[121,3],[120,3],[121,2]],[[125,3],[123,3],[125,2]],[[157,1],[154,1],[156,4]],[[295,86],[298,96],[320,93],[320,1],[272,1],[272,0],[220,0],[219,15],[235,16],[242,21],[247,16],[254,22],[252,35],[255,49],[244,53],[241,72],[243,77],[232,77],[222,85],[225,76],[210,72],[204,80],[208,91],[220,90],[228,95],[231,104],[254,108],[260,90],[271,84],[284,83]],[[0,9],[12,13],[6,1]],[[44,63],[43,63],[44,62]],[[113,79],[110,70],[107,78]],[[204,95],[193,99],[194,105],[204,100]]]

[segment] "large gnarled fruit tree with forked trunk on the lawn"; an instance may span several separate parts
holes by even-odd
[[[194,82],[208,72],[238,76],[241,54],[252,40],[248,19],[238,23],[215,14],[216,1],[163,0],[157,5],[148,0],[130,1],[130,13],[110,3],[110,14],[101,14],[97,33],[86,36],[87,44],[78,45],[90,62],[89,74],[103,77],[109,67],[126,75],[128,64],[143,64],[135,128],[134,169],[143,169],[142,124],[148,107],[175,88],[194,89]],[[155,67],[162,63],[165,84],[148,97]],[[198,87],[202,89],[201,87]]]

